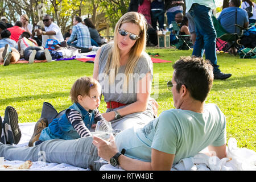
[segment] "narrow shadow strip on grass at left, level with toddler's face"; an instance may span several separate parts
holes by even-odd
[[[30,100],[38,100],[38,99],[52,99],[57,97],[67,97],[69,93],[67,92],[55,92],[51,94],[38,94],[38,95],[30,95],[30,96],[22,96],[22,97],[12,97],[12,98],[3,98],[0,99],[0,106],[2,105],[9,105],[12,102],[24,102]]]

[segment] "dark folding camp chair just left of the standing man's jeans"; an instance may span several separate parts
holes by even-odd
[[[183,47],[183,45],[185,45],[184,49],[191,49],[191,47],[189,46],[189,41],[186,40],[190,37],[190,35],[180,35],[180,28],[177,25],[177,22],[172,22],[172,28],[173,28],[173,32],[174,35],[176,37],[176,39],[178,40],[178,43],[176,45],[176,48],[178,47]],[[183,49],[183,48],[179,48],[179,49]]]

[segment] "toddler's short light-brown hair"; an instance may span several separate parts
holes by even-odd
[[[81,95],[90,96],[90,89],[100,86],[100,83],[92,77],[81,77],[75,81],[70,90],[71,101],[78,102],[77,97]]]

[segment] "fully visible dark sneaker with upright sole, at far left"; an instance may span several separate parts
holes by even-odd
[[[19,129],[18,113],[12,106],[7,106],[5,109],[3,127],[5,129],[6,142],[9,144],[18,144],[21,138],[21,132]]]

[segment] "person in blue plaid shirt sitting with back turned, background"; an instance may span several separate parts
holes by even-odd
[[[73,19],[73,25],[72,34],[67,43],[79,48],[92,47],[89,29],[87,26],[82,24],[82,19],[79,16],[76,16],[76,18]],[[75,40],[75,38],[77,40]]]

